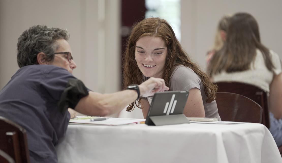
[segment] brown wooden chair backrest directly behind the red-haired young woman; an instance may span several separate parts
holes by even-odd
[[[217,92],[215,100],[222,121],[261,123],[262,107],[248,97]]]

